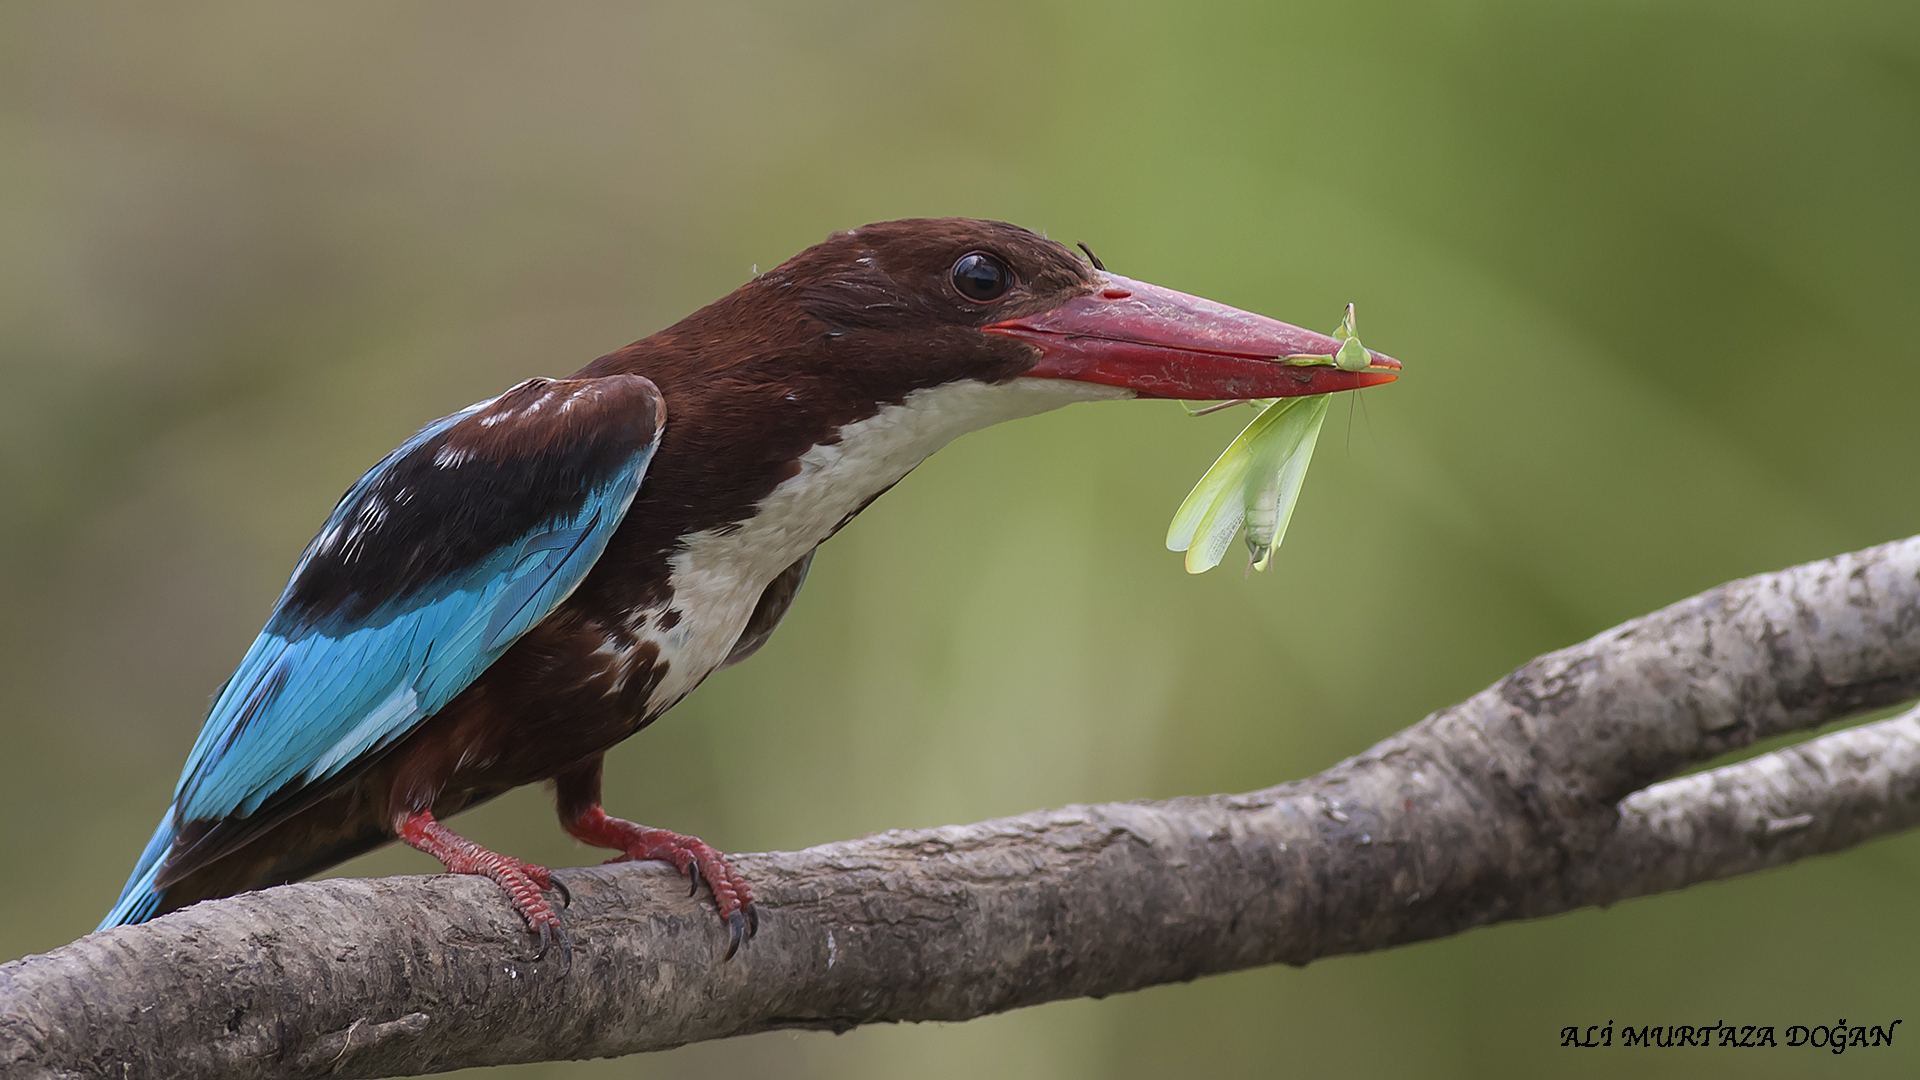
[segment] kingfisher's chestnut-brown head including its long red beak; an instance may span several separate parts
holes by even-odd
[[[972,379],[1062,379],[1140,398],[1290,398],[1390,382],[1400,367],[1286,365],[1340,342],[1129,281],[1008,225],[906,219],[837,233],[755,282],[822,334],[843,377],[897,398]]]

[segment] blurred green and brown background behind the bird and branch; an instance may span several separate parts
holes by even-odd
[[[1916,194],[1895,2],[8,4],[0,955],[92,928],[382,452],[828,231],[1002,217],[1319,329],[1356,300],[1407,375],[1342,402],[1252,580],[1160,546],[1246,413],[1075,405],[939,454],[611,755],[618,813],[732,851],[1306,776],[1920,530]],[[461,824],[597,859],[538,788]],[[1557,1032],[1912,1028],[1916,888],[1907,836],[1306,970],[499,1074],[1786,1076],[1814,1051]],[[1845,1068],[1914,1074],[1914,1040]]]

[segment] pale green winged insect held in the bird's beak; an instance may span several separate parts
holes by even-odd
[[[1365,371],[1373,363],[1354,331],[1352,304],[1346,306],[1346,317],[1332,336],[1340,342],[1340,352],[1288,356],[1283,363],[1325,363],[1342,371]],[[1223,402],[1192,413],[1202,415],[1240,404],[1256,405],[1260,415],[1227,444],[1167,527],[1167,550],[1187,552],[1190,575],[1217,567],[1242,527],[1252,567],[1267,569],[1273,552],[1286,538],[1294,503],[1300,502],[1313,444],[1319,440],[1321,423],[1327,421],[1329,394]]]

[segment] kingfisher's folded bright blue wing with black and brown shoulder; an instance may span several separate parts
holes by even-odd
[[[165,884],[236,846],[228,830],[225,849],[175,851],[182,826],[276,817],[365,767],[566,600],[634,502],[662,413],[639,377],[536,379],[361,477],[215,698],[102,926],[152,917]]]

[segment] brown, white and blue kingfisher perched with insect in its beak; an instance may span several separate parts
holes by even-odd
[[[1108,273],[1000,221],[835,233],[566,379],[432,421],[301,553],[102,928],[401,840],[564,944],[545,869],[444,819],[551,782],[561,828],[712,894],[693,836],[601,807],[601,759],[755,653],[814,550],[948,440],[1071,402],[1284,398],[1394,379],[1279,363],[1340,342]]]

